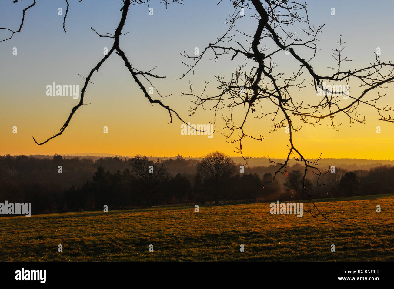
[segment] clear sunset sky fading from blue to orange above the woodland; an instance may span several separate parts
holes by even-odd
[[[17,30],[22,9],[30,2],[1,1],[0,27]],[[98,37],[90,27],[101,34],[113,33],[121,17],[119,1],[84,0],[78,3],[69,0],[69,3],[67,33],[63,31],[63,16],[58,15],[59,7],[65,13],[65,1],[37,0],[37,4],[26,12],[22,32],[0,42],[0,154],[174,156],[179,153],[185,157],[199,157],[220,150],[238,156],[234,153],[235,145],[226,143],[220,128],[213,138],[182,136],[181,122],[173,118],[173,123],[168,124],[168,113],[149,104],[116,54],[94,73],[91,78],[94,84],[89,84],[84,99],[89,105],[78,109],[65,132],[44,145],[35,144],[32,135],[43,141],[58,132],[72,106],[79,102],[71,96],[47,96],[46,85],[53,82],[78,84],[81,89],[84,79],[78,73],[86,76],[103,57],[103,48],[111,47],[113,42],[110,38]],[[154,80],[163,95],[172,93],[163,99],[165,104],[190,123],[208,123],[213,119],[212,111],[200,110],[196,115],[188,116],[191,98],[181,96],[181,92],[188,92],[190,80],[195,93],[199,93],[204,80],[209,80],[207,93],[216,93],[217,85],[212,76],[217,73],[230,75],[237,62],[229,61],[229,57],[217,63],[203,60],[194,75],[175,80],[186,71],[182,64],[185,59],[180,53],[192,54],[195,47],[202,50],[216,36],[223,34],[226,30],[223,24],[227,14],[233,11],[232,5],[228,1],[216,5],[217,1],[185,0],[184,5],[173,4],[166,9],[159,0],[149,3],[154,8],[153,16],[148,14],[146,5],[130,8],[123,29],[124,33],[129,33],[121,37],[120,46],[134,68],[149,70],[157,65],[154,72],[166,76]],[[376,47],[381,47],[381,60],[394,58],[391,37],[393,4],[390,0],[307,3],[311,24],[325,23],[319,37],[322,50],[312,61],[315,71],[322,74],[330,71],[327,66],[333,65],[331,49],[336,48],[339,35],[346,41],[346,56],[352,59],[349,69],[374,62]],[[335,16],[330,14],[332,7],[336,9]],[[251,13],[245,11],[246,17],[239,21],[238,30],[253,34],[256,21],[249,17]],[[8,32],[0,30],[2,39],[7,35]],[[17,55],[12,54],[13,47],[17,47]],[[287,65],[288,59],[284,55],[276,61],[283,71],[292,71],[292,64]],[[354,88],[354,93],[357,91]],[[385,93],[387,103],[394,106],[392,86]],[[310,95],[300,94],[299,97],[308,101],[316,95],[312,91]],[[324,158],[393,159],[394,124],[378,121],[373,111],[361,111],[366,114],[366,124],[355,123],[349,127],[347,119],[338,117],[343,123],[338,132],[325,123],[318,128],[303,125],[303,130],[294,135],[294,144],[310,158],[323,153]],[[268,121],[251,121],[249,132],[266,136],[266,139],[260,143],[245,142],[244,155],[286,156],[288,134],[284,130],[268,134],[271,125]],[[17,134],[12,133],[13,126],[17,126]],[[104,126],[108,127],[108,134],[103,133]],[[381,134],[376,133],[377,126],[381,127]]]

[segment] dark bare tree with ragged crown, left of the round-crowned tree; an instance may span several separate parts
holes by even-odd
[[[136,155],[130,160],[131,174],[146,194],[149,207],[152,207],[152,194],[171,176],[165,168],[165,161],[158,158],[149,160],[147,157]]]

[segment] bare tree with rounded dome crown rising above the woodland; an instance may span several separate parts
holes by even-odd
[[[212,183],[216,204],[219,203],[221,190],[236,172],[234,161],[219,151],[208,153],[197,166],[201,179]]]

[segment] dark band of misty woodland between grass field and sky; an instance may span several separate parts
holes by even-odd
[[[62,172],[59,172],[59,166]],[[61,211],[152,207],[221,201],[303,200],[303,167],[294,165],[277,175],[277,165],[244,168],[218,151],[201,161],[180,155],[168,160],[134,158],[52,159],[10,155],[0,157],[0,202],[32,203],[33,214]],[[304,185],[316,196],[342,197],[393,191],[394,167],[348,172],[336,168],[312,173]],[[273,179],[273,181],[272,181]],[[317,198],[317,197],[316,197]]]

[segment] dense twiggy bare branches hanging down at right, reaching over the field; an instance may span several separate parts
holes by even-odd
[[[308,170],[312,170],[317,175],[318,182],[320,175],[328,171],[322,172],[317,167],[321,154],[316,160],[308,160],[297,149],[293,136],[295,132],[301,130],[302,125],[297,127],[294,122],[297,120],[316,127],[322,124],[323,119],[328,119],[329,126],[337,130],[340,123],[336,123],[335,117],[340,114],[348,117],[350,124],[365,123],[365,117],[358,112],[359,106],[372,107],[376,110],[379,120],[394,122],[394,117],[390,115],[393,109],[386,104],[377,105],[377,101],[385,96],[379,91],[394,80],[394,64],[392,61],[382,62],[379,55],[374,52],[373,63],[361,68],[345,68],[349,59],[343,56],[345,42],[342,41],[342,37],[338,37],[339,48],[336,48],[333,54],[335,65],[329,67],[333,69],[333,73],[330,75],[319,73],[321,67],[313,67],[310,60],[320,49],[317,45],[318,35],[322,33],[324,25],[315,27],[310,24],[306,3],[297,0],[220,0],[217,4],[223,5],[225,2],[230,2],[233,9],[233,13],[229,14],[230,17],[225,22],[227,31],[214,42],[209,43],[198,56],[182,54],[189,61],[185,63],[187,69],[181,78],[191,71],[194,72],[202,58],[216,62],[219,57],[229,54],[231,60],[239,60],[242,64],[235,68],[229,78],[223,75],[215,76],[220,91],[217,95],[204,96],[208,82],[205,82],[201,94],[195,94],[190,84],[190,93],[184,93],[194,97],[190,112],[194,114],[200,107],[212,109],[215,112],[212,123],[215,124],[221,114],[225,122],[223,129],[227,141],[237,144],[237,151],[246,163],[248,158],[243,155],[243,140],[250,138],[262,141],[265,138],[247,132],[245,127],[251,118],[273,123],[269,132],[287,127],[289,130],[287,158],[280,163],[273,179],[278,173],[286,172],[289,159],[294,157],[305,167],[303,189],[309,197],[309,212],[312,216],[322,215],[325,219],[331,220],[327,216],[328,213],[323,213],[315,206],[312,194],[305,188],[305,176]],[[235,29],[237,21],[244,17],[246,11],[257,20],[254,35],[247,35]],[[296,31],[301,32],[301,35]],[[246,47],[242,45],[235,35],[246,40],[248,45]],[[308,53],[309,60],[304,58]],[[285,67],[278,67],[275,63],[275,57],[285,56],[299,63],[299,68],[290,76],[286,75]],[[364,88],[359,95],[323,87],[323,82],[326,81],[348,85],[350,80],[358,81],[360,87]],[[304,99],[297,99],[299,91],[303,93],[322,91],[322,95],[306,103]],[[372,95],[373,92],[375,95]],[[346,98],[346,101],[341,98]],[[237,120],[235,114],[242,114],[242,119]],[[336,220],[336,222],[340,221],[342,220]]]

